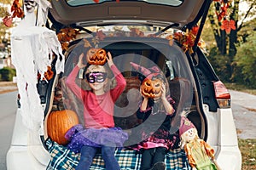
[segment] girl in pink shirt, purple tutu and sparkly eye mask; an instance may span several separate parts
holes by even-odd
[[[67,86],[84,103],[84,127],[79,124],[66,133],[65,137],[70,140],[67,147],[76,153],[81,152],[76,169],[90,169],[96,151],[101,149],[106,169],[119,170],[114,150],[122,147],[128,135],[120,127],[114,127],[113,106],[125,89],[125,78],[113,64],[112,55],[108,52],[108,66],[117,82],[115,88],[105,90],[108,73],[103,65],[90,65],[85,71],[85,77],[91,90],[84,90],[75,82],[79,70],[85,66],[83,57],[84,54],[80,54],[78,64],[67,77]]]

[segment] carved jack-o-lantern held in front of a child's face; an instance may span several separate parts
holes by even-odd
[[[148,98],[159,98],[162,94],[162,81],[160,79],[148,79],[143,80],[141,86],[141,92],[143,96]]]

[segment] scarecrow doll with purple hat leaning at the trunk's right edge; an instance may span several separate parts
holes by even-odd
[[[200,139],[194,124],[185,116],[182,116],[179,128],[181,148],[185,150],[189,159],[189,165],[201,170],[220,170],[214,158],[214,150],[204,140]]]

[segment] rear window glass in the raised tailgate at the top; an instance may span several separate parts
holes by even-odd
[[[99,0],[99,3],[111,2],[111,1],[113,0]],[[151,4],[169,5],[169,6],[179,6],[183,3],[183,0],[137,0],[137,1],[151,3]],[[95,1],[93,0],[66,0],[66,2],[71,6],[95,4]]]

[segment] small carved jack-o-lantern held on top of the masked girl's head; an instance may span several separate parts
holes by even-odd
[[[90,48],[86,59],[90,65],[104,65],[107,61],[107,53],[102,48]]]

